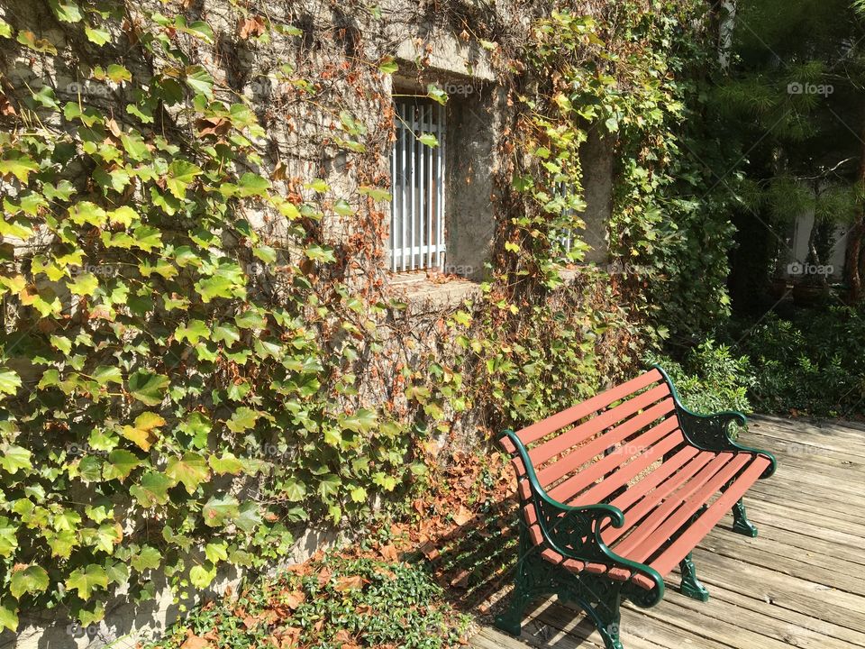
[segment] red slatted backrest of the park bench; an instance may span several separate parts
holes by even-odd
[[[606,502],[685,441],[669,384],[654,369],[516,435],[542,489],[568,505]],[[528,504],[524,460],[509,439],[503,437],[502,444],[513,455],[520,495]]]

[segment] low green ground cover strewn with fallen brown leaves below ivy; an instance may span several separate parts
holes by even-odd
[[[269,638],[294,646],[280,644],[286,637],[310,649],[440,649],[459,644],[469,624],[442,592],[420,566],[332,554],[193,609],[148,649],[178,649],[193,635],[220,649],[269,646]]]

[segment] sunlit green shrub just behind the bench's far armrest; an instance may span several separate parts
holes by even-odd
[[[669,374],[686,407],[697,413],[751,411],[748,389],[753,384],[747,356],[733,356],[727,345],[707,340],[687,352],[682,362],[667,356],[650,358]]]

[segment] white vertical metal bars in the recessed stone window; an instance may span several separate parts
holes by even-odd
[[[397,101],[396,140],[390,156],[393,187],[390,267],[444,270],[444,106]],[[418,138],[431,133],[437,147]]]

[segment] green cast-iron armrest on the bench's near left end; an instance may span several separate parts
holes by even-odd
[[[601,537],[601,527],[606,520],[609,520],[614,527],[624,526],[622,510],[605,504],[571,507],[551,498],[538,481],[529,453],[520,438],[511,430],[505,430],[499,436],[507,437],[523,460],[543,540],[551,550],[566,559],[602,563],[645,575],[654,583],[653,588],[649,591],[641,589],[642,592],[635,592],[632,599],[635,604],[643,608],[657,604],[664,596],[664,580],[658,571],[644,563],[633,562],[619,556],[605,544]]]

